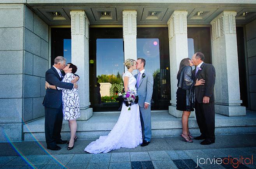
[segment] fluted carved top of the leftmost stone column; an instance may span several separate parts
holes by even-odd
[[[70,11],[71,16],[71,34],[84,35],[89,39],[89,25],[90,22],[83,10]]]

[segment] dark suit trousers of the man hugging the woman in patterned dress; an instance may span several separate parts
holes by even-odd
[[[44,107],[45,122],[44,131],[47,146],[56,145],[56,141],[61,140],[61,128],[62,128],[62,106],[58,109]]]

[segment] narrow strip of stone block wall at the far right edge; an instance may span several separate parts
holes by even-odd
[[[249,93],[251,110],[256,110],[256,20],[245,26],[247,40],[247,60],[249,76]]]

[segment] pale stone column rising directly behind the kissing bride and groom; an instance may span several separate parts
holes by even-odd
[[[124,60],[137,60],[137,11],[123,11]],[[125,67],[126,70],[126,67]],[[136,73],[134,71],[133,73]]]

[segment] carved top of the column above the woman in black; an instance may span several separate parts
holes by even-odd
[[[169,40],[175,34],[187,34],[187,11],[175,10],[168,22]]]

